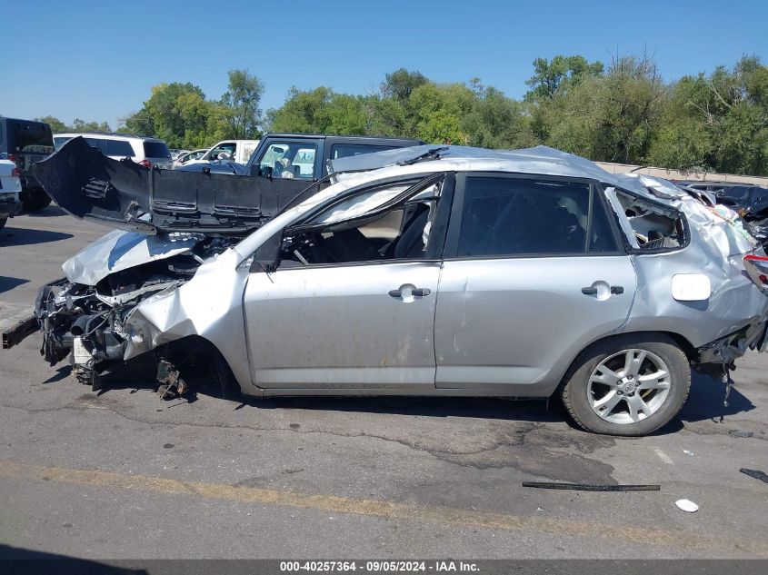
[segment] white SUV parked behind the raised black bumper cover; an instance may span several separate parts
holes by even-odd
[[[171,169],[174,167],[171,160],[171,152],[163,140],[150,138],[143,135],[83,132],[69,134],[55,134],[54,145],[56,150],[76,138],[82,136],[85,142],[95,147],[105,156],[113,160],[130,158],[136,164],[147,168],[158,167]]]

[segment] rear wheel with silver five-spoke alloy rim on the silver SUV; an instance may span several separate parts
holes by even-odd
[[[662,334],[626,334],[576,358],[562,399],[587,431],[638,436],[671,421],[690,389],[691,364],[676,342]]]

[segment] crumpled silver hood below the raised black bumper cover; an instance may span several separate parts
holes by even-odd
[[[111,273],[187,252],[198,241],[198,236],[189,234],[160,236],[115,230],[68,259],[62,269],[72,283],[95,285]]]

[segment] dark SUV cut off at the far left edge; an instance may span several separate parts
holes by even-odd
[[[32,173],[32,164],[53,151],[51,126],[45,122],[0,117],[0,153],[7,154],[19,169],[22,185],[19,198],[27,212],[42,210],[51,203]]]

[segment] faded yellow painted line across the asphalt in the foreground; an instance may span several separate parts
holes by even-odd
[[[354,513],[387,519],[430,521],[462,527],[480,527],[510,531],[535,531],[554,535],[575,535],[606,540],[632,541],[637,545],[655,545],[678,549],[729,550],[768,555],[768,541],[741,540],[700,535],[693,531],[632,527],[576,520],[556,520],[530,515],[510,515],[466,511],[449,507],[413,506],[392,501],[379,501],[319,495],[297,491],[236,487],[224,483],[179,481],[164,477],[130,475],[110,471],[78,470],[65,467],[31,465],[0,461],[0,477],[22,480],[59,481],[75,485],[93,485],[121,490],[154,491],[189,495],[211,500],[284,505],[314,511]]]

